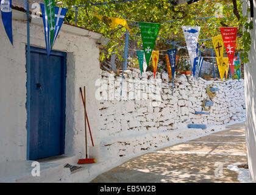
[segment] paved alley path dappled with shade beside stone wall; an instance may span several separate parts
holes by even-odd
[[[244,123],[133,158],[91,182],[238,182],[227,169],[246,163]],[[222,170],[222,171],[219,171]]]

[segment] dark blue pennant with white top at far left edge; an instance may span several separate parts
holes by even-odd
[[[1,0],[1,13],[2,13],[2,23],[4,24],[4,29],[9,37],[10,42],[13,44],[12,40],[12,0]]]

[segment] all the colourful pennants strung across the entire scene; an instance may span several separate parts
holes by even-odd
[[[41,13],[43,16],[44,24],[44,37],[46,42],[47,55],[51,54],[51,49],[57,39],[59,31],[62,27],[66,12],[68,9],[56,7],[54,0],[44,0],[44,4],[40,4]],[[2,23],[4,24],[5,32],[9,37],[10,42],[13,44],[12,36],[12,0],[1,0],[1,14]],[[126,19],[114,18],[108,16],[94,15],[100,19],[107,26],[115,29],[121,25],[130,31]],[[146,71],[149,66],[149,62],[152,59],[154,78],[157,72],[159,51],[154,51],[155,40],[157,39],[160,26],[158,23],[145,23],[138,22],[140,27],[141,39],[143,43],[143,51],[137,51],[138,61],[140,65],[141,74]],[[177,26],[177,25],[176,25]],[[188,55],[191,62],[191,70],[195,79],[198,79],[199,73],[204,62],[204,57],[199,57],[199,34],[200,26],[181,26],[185,41],[187,44]],[[216,52],[216,60],[218,65],[219,74],[221,80],[223,80],[224,74],[227,73],[230,68],[233,76],[234,70],[238,79],[240,79],[240,61],[235,59],[235,47],[236,47],[236,34],[237,27],[219,27],[221,34],[213,37],[212,42]],[[227,57],[223,57],[224,48],[226,49]],[[176,68],[176,62],[179,58],[177,55],[177,49],[169,49],[166,54],[166,64],[168,69],[169,78],[172,78],[172,85],[174,82],[174,74]]]

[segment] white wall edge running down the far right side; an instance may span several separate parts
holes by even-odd
[[[247,1],[249,4],[249,1]],[[243,4],[244,14],[247,5]],[[254,18],[249,17],[254,23],[254,29],[251,30],[251,51],[249,52],[250,62],[244,65],[244,89],[246,94],[246,143],[247,157],[250,175],[256,182],[256,4],[254,1]]]

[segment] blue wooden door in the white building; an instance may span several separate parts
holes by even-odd
[[[29,160],[64,153],[66,53],[31,48]]]

